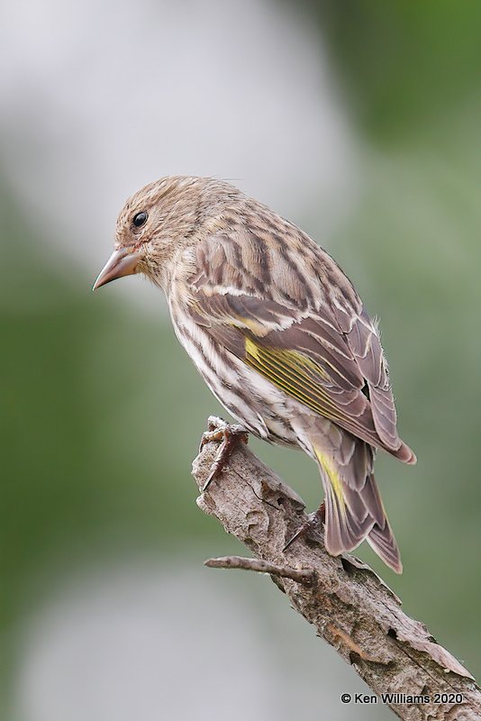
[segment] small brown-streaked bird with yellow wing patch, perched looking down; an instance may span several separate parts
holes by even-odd
[[[377,321],[328,252],[228,182],[169,176],[126,201],[94,289],[135,273],[164,291],[178,341],[242,428],[315,461],[326,550],[367,540],[401,573],[374,460],[416,457]]]

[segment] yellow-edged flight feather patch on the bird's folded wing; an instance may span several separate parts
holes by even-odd
[[[329,376],[314,360],[299,351],[266,348],[251,338],[245,340],[245,361],[251,368],[274,383],[277,388],[295,397],[315,413],[333,421],[342,420],[338,408],[322,388],[317,378],[329,380]]]

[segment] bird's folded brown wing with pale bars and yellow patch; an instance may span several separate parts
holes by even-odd
[[[301,241],[293,252],[241,230],[199,243],[189,313],[314,413],[410,461],[377,327],[330,256]]]

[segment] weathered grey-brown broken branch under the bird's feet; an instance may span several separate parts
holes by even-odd
[[[219,425],[218,419],[209,423],[211,431]],[[211,441],[195,459],[199,488],[218,453],[219,442]],[[304,503],[244,443],[197,505],[259,559],[231,557],[207,564],[268,572],[317,635],[379,698],[400,695],[387,703],[397,716],[405,721],[481,719],[481,693],[473,677],[422,623],[404,614],[399,598],[373,570],[353,556],[332,558],[322,543],[304,536],[282,551],[306,519]],[[425,698],[410,703],[406,697],[413,696]]]

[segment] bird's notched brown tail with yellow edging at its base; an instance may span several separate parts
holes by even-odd
[[[354,439],[353,439],[354,440]],[[328,552],[352,551],[365,539],[396,573],[403,564],[372,472],[373,451],[356,439],[349,462],[314,446],[325,492],[325,537]]]

